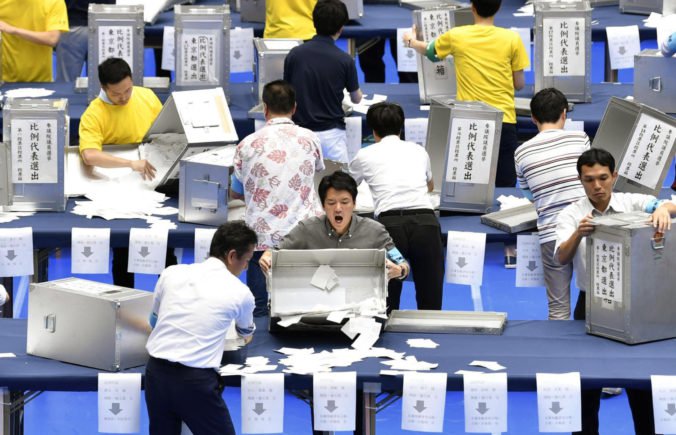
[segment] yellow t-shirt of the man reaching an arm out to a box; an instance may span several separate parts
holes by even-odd
[[[519,35],[496,26],[454,27],[434,41],[440,59],[453,56],[457,99],[483,101],[500,109],[503,122],[516,124],[512,73],[529,63]]]

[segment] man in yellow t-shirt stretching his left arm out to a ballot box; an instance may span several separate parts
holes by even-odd
[[[530,60],[516,32],[494,25],[501,0],[471,0],[474,24],[454,27],[434,41],[418,41],[415,29],[404,43],[432,61],[453,56],[459,101],[483,101],[504,113],[497,187],[514,187],[514,151],[518,146],[514,90],[525,84],[523,70]]]

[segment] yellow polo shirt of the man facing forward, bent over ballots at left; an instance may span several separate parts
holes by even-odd
[[[162,110],[153,91],[134,86],[124,106],[108,104],[97,97],[80,119],[80,153],[102,150],[103,145],[139,143]]]

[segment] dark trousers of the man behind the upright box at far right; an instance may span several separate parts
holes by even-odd
[[[585,292],[580,292],[575,304],[573,318],[584,320],[586,317]],[[652,435],[655,433],[655,417],[653,415],[653,397],[650,390],[626,388],[631,415],[634,419],[636,435]],[[598,435],[599,408],[601,406],[601,390],[582,390],[582,430],[575,435]]]

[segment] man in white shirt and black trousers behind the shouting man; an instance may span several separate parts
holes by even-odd
[[[393,103],[371,106],[366,122],[376,143],[359,150],[350,163],[357,183],[371,189],[375,217],[413,271],[416,302],[421,310],[440,310],[444,288],[441,227],[428,192],[434,189],[430,158],[425,148],[399,138],[404,111]],[[388,283],[388,310],[398,310],[402,281]]]

